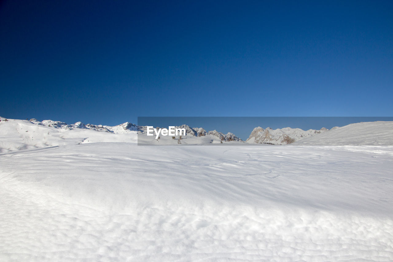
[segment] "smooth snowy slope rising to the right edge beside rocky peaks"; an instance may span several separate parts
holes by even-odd
[[[361,122],[336,127],[316,137],[296,142],[299,145],[377,145],[393,146],[393,122]]]

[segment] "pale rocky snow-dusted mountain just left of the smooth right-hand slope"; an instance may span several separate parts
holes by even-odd
[[[282,129],[278,128],[274,130],[270,127],[267,127],[266,129],[263,129],[262,127],[255,127],[246,142],[274,145],[291,144],[303,138],[319,135],[327,131],[329,131],[329,129],[325,127],[322,127],[320,130],[309,129],[306,131],[300,128],[291,127],[285,127]]]

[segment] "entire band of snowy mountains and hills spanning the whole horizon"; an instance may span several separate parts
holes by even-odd
[[[66,146],[71,144],[86,144],[97,142],[129,142],[141,145],[207,145],[220,144],[290,144],[297,146],[323,145],[372,145],[393,146],[393,122],[360,122],[343,127],[333,127],[331,130],[285,127],[271,129],[255,127],[246,141],[232,133],[221,133],[217,130],[206,131],[202,127],[180,125],[186,130],[186,135],[180,140],[178,136],[164,136],[156,139],[145,135],[146,127],[125,122],[120,125],[92,125],[77,122],[66,124],[60,121],[31,119],[17,120],[0,117],[0,153],[15,150],[43,148],[48,146]],[[380,150],[380,149],[378,149]]]

